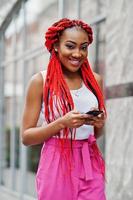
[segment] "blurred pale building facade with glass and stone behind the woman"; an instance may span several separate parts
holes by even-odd
[[[98,141],[106,161],[108,200],[133,199],[132,192],[132,5],[116,0],[14,1],[10,23],[0,32],[0,188],[17,199],[35,199],[41,146],[24,147],[19,129],[31,76],[46,69],[47,28],[62,17],[92,25],[89,61],[104,78],[105,135]],[[9,16],[8,16],[9,17]]]

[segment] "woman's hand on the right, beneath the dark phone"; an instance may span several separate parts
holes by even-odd
[[[105,123],[105,114],[99,114],[98,116],[88,115],[88,119],[85,120],[86,125],[91,125],[96,128],[102,128]]]

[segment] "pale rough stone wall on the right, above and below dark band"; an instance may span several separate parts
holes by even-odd
[[[133,82],[132,18],[132,1],[108,1],[106,23],[106,86],[108,87]],[[125,95],[124,98],[109,99],[107,110],[107,199],[133,200],[133,97]]]

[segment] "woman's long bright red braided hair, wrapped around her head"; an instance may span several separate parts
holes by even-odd
[[[59,37],[63,31],[74,26],[81,27],[86,31],[88,34],[89,44],[91,44],[93,41],[92,29],[88,24],[81,20],[70,20],[67,18],[61,19],[54,23],[47,30],[45,35],[45,46],[51,53],[44,85],[45,118],[48,123],[56,119],[56,113],[58,113],[58,116],[62,116],[74,108],[69,88],[63,78],[61,62],[54,50],[54,45],[58,43]],[[96,95],[99,109],[105,110],[102,91],[95,80],[87,59],[81,66],[81,75],[86,87]],[[67,138],[69,132],[70,129],[65,128],[63,130],[63,138]],[[71,138],[72,134],[75,133],[71,131]]]

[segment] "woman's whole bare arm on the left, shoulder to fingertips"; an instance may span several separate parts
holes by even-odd
[[[65,127],[80,127],[87,117],[76,111],[70,111],[44,127],[36,127],[42,105],[42,96],[43,79],[41,74],[37,74],[29,82],[24,104],[21,138],[25,145],[41,144]]]

